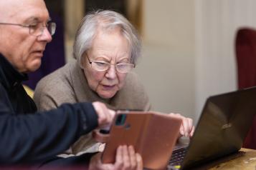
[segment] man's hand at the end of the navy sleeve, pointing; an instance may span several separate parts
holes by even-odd
[[[100,129],[110,126],[115,116],[115,111],[110,110],[105,104],[95,101],[93,102],[94,109],[98,114],[98,125]]]

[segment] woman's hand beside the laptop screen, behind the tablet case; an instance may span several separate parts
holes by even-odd
[[[194,134],[194,126],[193,126],[193,120],[190,118],[186,118],[184,116],[181,116],[181,114],[170,114],[171,116],[178,117],[182,120],[181,128],[179,129],[180,136],[186,136],[191,137]]]

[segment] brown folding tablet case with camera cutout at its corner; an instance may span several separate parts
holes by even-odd
[[[103,163],[115,162],[120,145],[133,145],[147,169],[166,169],[179,136],[181,119],[153,111],[118,111],[103,151]]]

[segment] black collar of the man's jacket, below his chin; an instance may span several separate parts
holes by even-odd
[[[13,89],[17,84],[27,80],[27,74],[19,73],[7,59],[0,54],[0,82],[6,89]]]

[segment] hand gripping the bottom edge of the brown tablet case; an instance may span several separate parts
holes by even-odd
[[[95,170],[141,170],[143,161],[140,154],[135,153],[133,146],[118,146],[114,164],[103,164],[100,160],[102,153],[95,154],[90,159],[89,169]]]

